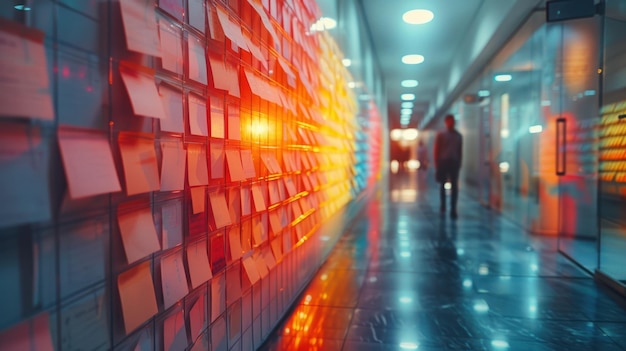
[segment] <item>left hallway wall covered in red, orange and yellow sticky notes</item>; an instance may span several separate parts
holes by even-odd
[[[0,350],[263,342],[380,176],[320,16],[0,4]]]

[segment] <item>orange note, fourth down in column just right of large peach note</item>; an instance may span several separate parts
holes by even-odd
[[[127,212],[125,205],[117,210],[122,243],[128,263],[133,263],[149,254],[159,251],[161,246],[156,233],[150,208]]]

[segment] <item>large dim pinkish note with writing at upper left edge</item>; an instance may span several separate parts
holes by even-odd
[[[54,119],[44,33],[0,19],[0,116]]]

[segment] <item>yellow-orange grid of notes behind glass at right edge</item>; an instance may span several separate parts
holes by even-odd
[[[626,195],[626,102],[601,110],[599,176],[604,192]]]

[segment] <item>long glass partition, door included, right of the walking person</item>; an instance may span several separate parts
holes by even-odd
[[[465,91],[478,98],[455,107],[466,154],[476,154],[463,169],[467,193],[558,237],[559,250],[590,272],[598,267],[601,24],[600,16],[545,23],[536,12]]]

